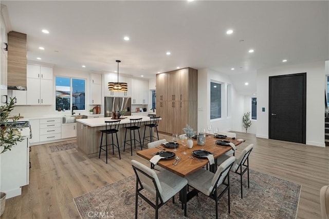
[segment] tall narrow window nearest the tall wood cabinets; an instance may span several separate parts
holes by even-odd
[[[221,84],[210,82],[210,120],[222,117]]]

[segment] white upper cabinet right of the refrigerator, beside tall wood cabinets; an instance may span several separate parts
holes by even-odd
[[[139,79],[132,79],[132,104],[149,104],[149,82]]]

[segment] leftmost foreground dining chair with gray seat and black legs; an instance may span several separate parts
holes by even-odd
[[[151,168],[132,160],[134,172],[136,174],[136,201],[135,201],[135,218],[137,218],[138,196],[155,209],[155,218],[158,218],[158,209],[164,205],[170,198],[173,198],[176,193],[180,192],[182,197],[182,208],[184,208],[184,216],[187,216],[187,183],[186,178],[183,178],[168,170],[155,173]],[[147,190],[153,198],[153,202],[145,197],[141,192]]]

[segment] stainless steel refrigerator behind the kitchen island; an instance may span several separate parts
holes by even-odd
[[[105,117],[112,116],[112,112],[116,111],[122,111],[123,109],[126,109],[126,113],[124,115],[131,115],[132,111],[132,102],[131,97],[108,97],[105,96]]]

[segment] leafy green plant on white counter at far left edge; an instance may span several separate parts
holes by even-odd
[[[10,151],[11,147],[17,144],[17,142],[22,142],[24,137],[21,136],[19,131],[19,127],[15,127],[17,120],[19,120],[19,115],[11,116],[10,123],[8,123],[10,112],[14,109],[14,98],[10,98],[9,103],[6,103],[4,106],[0,106],[0,114],[1,114],[1,128],[0,128],[0,141],[1,153],[5,151]]]

